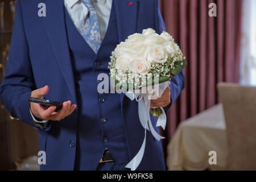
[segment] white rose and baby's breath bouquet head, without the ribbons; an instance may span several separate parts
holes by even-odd
[[[159,78],[159,83],[168,81],[187,64],[172,36],[164,31],[159,35],[152,28],[130,35],[117,45],[110,59],[110,76],[115,78],[115,85],[134,88],[148,85],[147,81],[154,81],[154,77]]]

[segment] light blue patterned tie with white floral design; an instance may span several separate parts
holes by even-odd
[[[101,46],[101,31],[100,22],[98,21],[98,14],[90,0],[81,0],[82,3],[89,10],[89,18],[84,19],[82,26],[82,37],[88,43],[88,45],[93,49],[95,53],[98,52]]]

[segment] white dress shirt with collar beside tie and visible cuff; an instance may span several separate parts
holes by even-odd
[[[109,26],[109,18],[110,18],[113,0],[91,0],[91,1],[93,2],[93,5],[98,13],[98,19],[100,22],[101,39],[103,40]],[[68,11],[69,16],[72,19],[72,22],[75,24],[77,30],[81,34],[82,24],[84,20],[89,17],[89,11],[87,7],[80,0],[64,0],[64,5]],[[38,121],[35,119],[32,113],[31,115],[35,124],[40,123],[40,124],[36,124],[36,126],[40,128],[46,127],[48,120]]]

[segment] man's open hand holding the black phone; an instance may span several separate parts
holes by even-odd
[[[48,91],[49,87],[44,86],[40,89],[33,90],[31,93],[31,97],[43,99],[43,96],[47,94]],[[76,109],[76,105],[71,105],[71,101],[66,101],[63,102],[61,110],[55,112],[55,109],[56,106],[50,106],[48,109],[46,109],[44,106],[38,103],[30,102],[30,110],[36,118],[51,121],[60,121],[61,119],[64,119],[68,115],[72,114],[73,111]]]

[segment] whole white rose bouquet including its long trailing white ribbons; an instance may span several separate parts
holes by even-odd
[[[170,84],[168,80],[180,73],[187,62],[170,34],[163,32],[159,35],[152,28],[143,30],[142,34],[130,35],[125,42],[117,45],[110,59],[110,82],[118,90],[128,90],[126,96],[130,100],[138,102],[139,121],[145,129],[141,149],[126,166],[135,170],[143,158],[146,146],[146,131],[150,130],[157,140],[164,138],[152,126],[149,114],[150,96],[152,93],[156,93],[158,97],[161,97],[163,91]],[[142,91],[143,88],[149,88],[153,85],[153,92]],[[156,89],[158,89],[158,92],[156,92]],[[136,90],[142,92],[137,93]],[[153,110],[151,114],[157,113],[158,116],[156,126],[165,129],[166,114],[163,108],[154,108]]]

